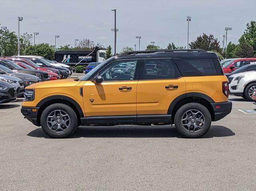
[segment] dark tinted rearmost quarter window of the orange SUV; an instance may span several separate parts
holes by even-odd
[[[174,62],[178,66],[183,77],[218,75],[212,59],[174,58]]]

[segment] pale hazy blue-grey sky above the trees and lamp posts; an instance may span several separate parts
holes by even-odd
[[[228,42],[238,43],[246,24],[256,20],[256,0],[0,0],[0,24],[20,34],[39,32],[36,43],[74,47],[74,39],[88,38],[114,49],[114,12],[116,9],[117,52],[122,47],[134,47],[138,39],[140,50],[150,41],[166,48],[168,43],[186,46],[188,23],[189,41],[206,33],[222,40],[225,27]],[[32,40],[34,41],[34,39]]]

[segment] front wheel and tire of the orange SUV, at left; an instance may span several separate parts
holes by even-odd
[[[49,122],[49,120],[52,122]],[[78,126],[78,118],[70,106],[55,103],[44,109],[40,123],[43,131],[48,136],[52,138],[67,138],[75,132]]]

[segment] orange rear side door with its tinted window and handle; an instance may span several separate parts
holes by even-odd
[[[167,114],[168,108],[186,86],[171,59],[142,59],[137,86],[137,120],[140,115]]]

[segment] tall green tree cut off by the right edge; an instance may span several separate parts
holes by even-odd
[[[248,43],[252,46],[254,53],[256,53],[256,21],[251,21],[246,24],[245,32],[238,41],[241,45]]]

